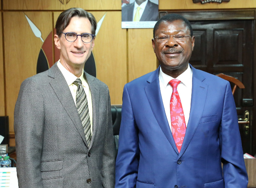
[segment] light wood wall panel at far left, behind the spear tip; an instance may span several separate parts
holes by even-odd
[[[26,12],[42,33],[42,39],[52,31],[51,12]],[[4,12],[4,48],[6,71],[7,115],[10,134],[14,133],[14,107],[20,84],[36,74],[42,41],[35,37],[23,12]]]

